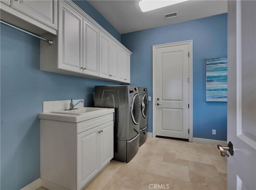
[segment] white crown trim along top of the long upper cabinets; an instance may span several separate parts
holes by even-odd
[[[78,13],[80,13],[85,19],[87,19],[88,21],[90,21],[94,26],[96,26],[100,32],[106,34],[111,40],[113,40],[114,42],[116,42],[116,44],[118,44],[119,46],[121,46],[129,55],[132,54],[132,52],[127,49],[123,44],[121,44],[118,40],[116,40],[116,38],[114,38],[109,32],[107,32],[104,28],[102,28],[102,26],[100,26],[100,24],[98,24],[95,20],[93,20],[88,14],[86,14],[80,7],[78,7],[76,4],[74,4],[74,2],[72,2],[71,0],[60,0],[61,2],[64,2],[66,4],[68,4],[69,6],[71,6],[72,8],[74,8],[74,10],[76,10]]]

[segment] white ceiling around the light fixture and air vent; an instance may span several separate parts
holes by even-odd
[[[149,12],[141,12],[139,0],[88,0],[88,2],[120,34],[228,12],[226,0],[190,0]],[[164,14],[176,11],[178,17],[164,19]]]

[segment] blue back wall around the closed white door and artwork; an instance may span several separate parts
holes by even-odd
[[[122,34],[122,44],[132,51],[131,84],[147,87],[152,96],[152,46],[193,40],[193,136],[226,141],[227,103],[205,101],[205,59],[227,56],[227,36],[227,14]]]

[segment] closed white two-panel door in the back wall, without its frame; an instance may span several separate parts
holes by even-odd
[[[188,139],[189,45],[156,49],[156,135]]]

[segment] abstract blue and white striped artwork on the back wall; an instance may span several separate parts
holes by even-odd
[[[228,58],[206,59],[206,101],[226,102],[228,98]]]

